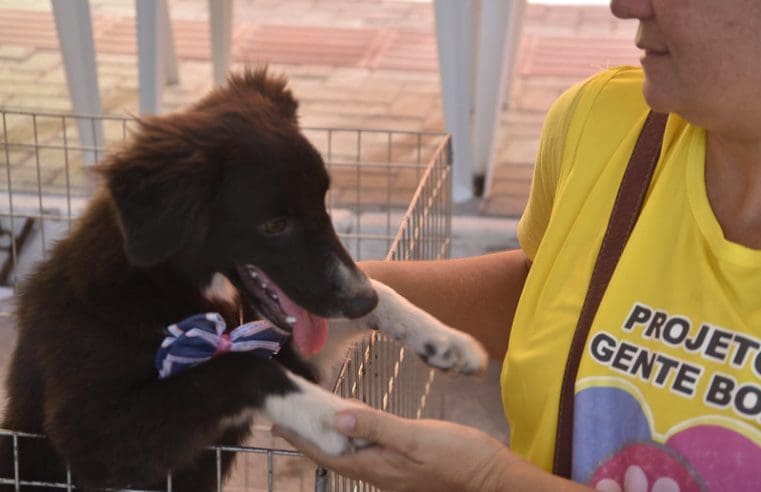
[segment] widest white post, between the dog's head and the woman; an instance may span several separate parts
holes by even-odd
[[[454,152],[453,198],[488,193],[502,102],[509,93],[525,0],[435,0],[442,100]]]

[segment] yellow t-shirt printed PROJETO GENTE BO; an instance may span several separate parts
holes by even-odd
[[[565,359],[648,112],[641,86],[639,69],[619,68],[555,103],[518,228],[533,263],[503,402],[511,447],[546,470]],[[724,238],[704,157],[704,130],[671,115],[582,356],[573,478],[600,490],[761,490],[761,251]]]

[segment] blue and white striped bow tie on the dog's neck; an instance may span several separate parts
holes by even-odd
[[[265,320],[241,325],[229,334],[218,313],[196,314],[167,328],[169,335],[156,353],[159,378],[166,378],[225,352],[254,352],[272,358],[288,339]]]

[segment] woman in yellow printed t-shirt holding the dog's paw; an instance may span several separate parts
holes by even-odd
[[[555,103],[521,249],[364,265],[495,357],[509,336],[510,448],[357,410],[336,428],[376,447],[329,457],[287,435],[316,461],[400,491],[761,490],[761,2],[612,0],[611,10],[639,20],[642,70],[603,72]],[[550,473],[559,361],[650,108],[670,116],[587,338],[569,481]]]

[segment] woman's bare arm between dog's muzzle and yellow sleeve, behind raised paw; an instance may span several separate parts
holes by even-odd
[[[437,261],[365,261],[370,277],[477,338],[495,359],[507,348],[530,261],[520,249]]]

